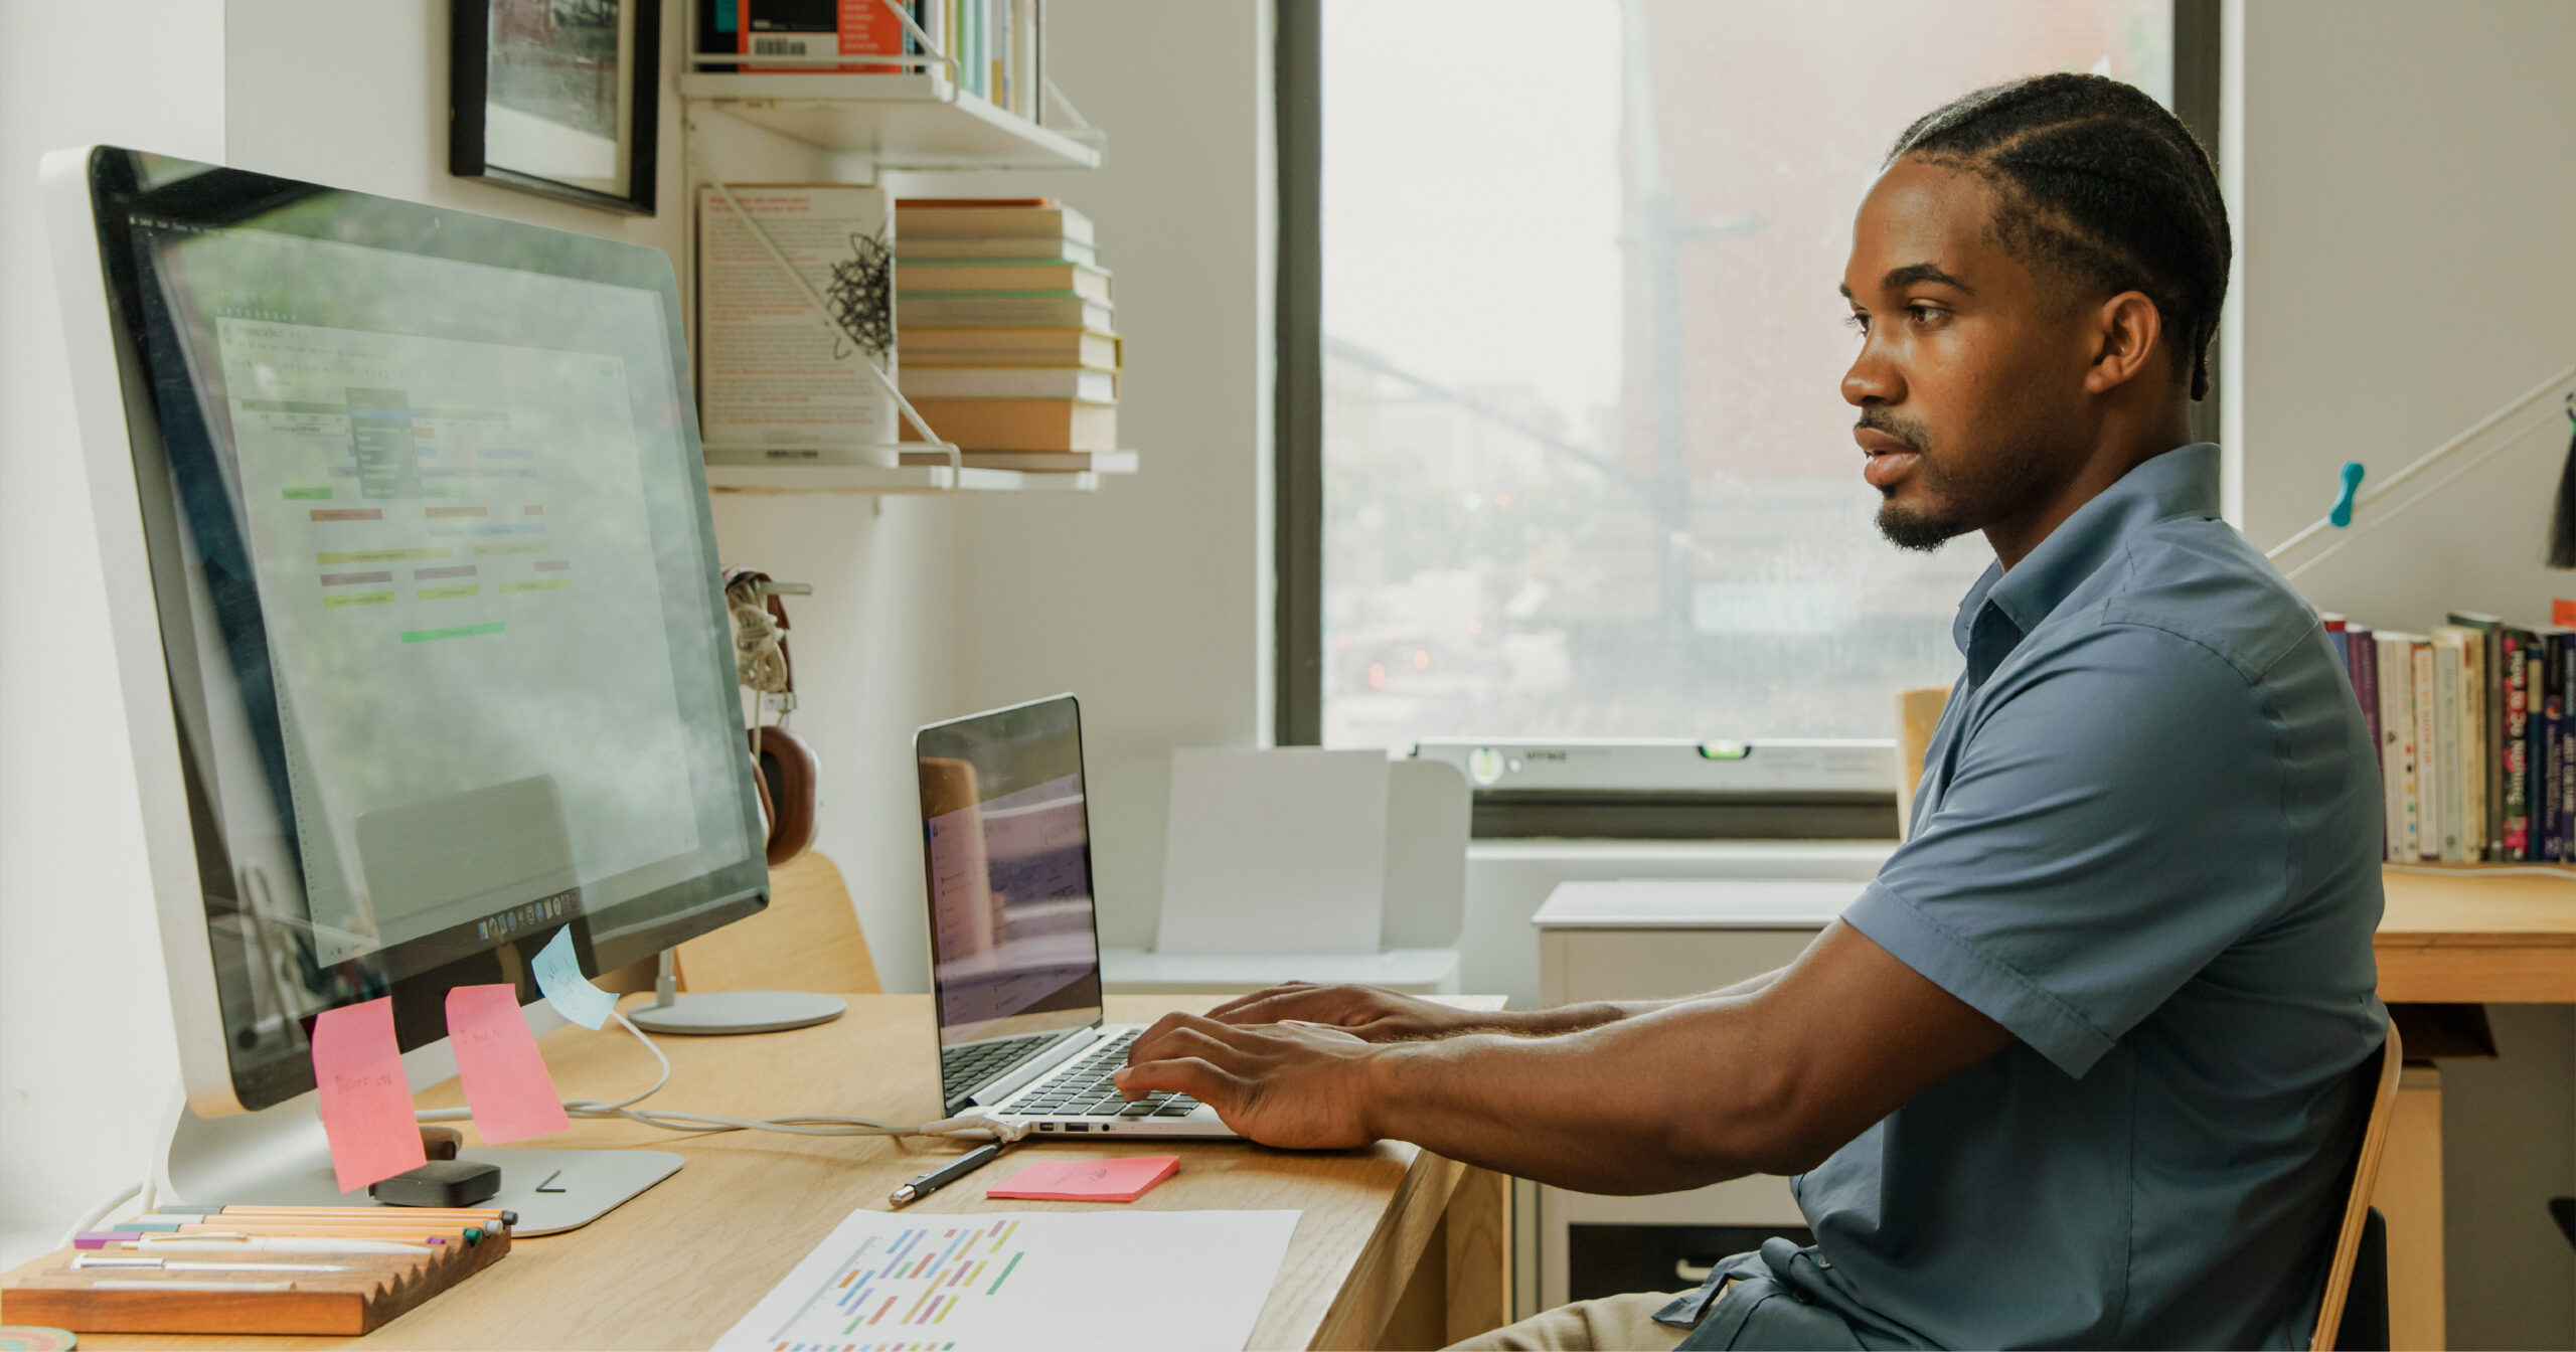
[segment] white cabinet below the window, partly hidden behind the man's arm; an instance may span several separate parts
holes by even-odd
[[[1788,966],[1860,896],[1862,878],[1569,881],[1530,922],[1546,1004],[1672,999]],[[1726,1074],[1710,1051],[1708,1074]],[[1569,1298],[1584,1272],[1636,1272],[1631,1290],[1685,1288],[1710,1234],[1801,1228],[1788,1179],[1747,1177],[1656,1197],[1597,1197],[1538,1187],[1538,1308]],[[1659,1239],[1662,1236],[1662,1239]],[[1592,1244],[1595,1254],[1579,1252]],[[1747,1244],[1749,1246],[1749,1244]],[[1607,1257],[1615,1249],[1615,1257]],[[1600,1282],[1605,1277],[1589,1277]]]

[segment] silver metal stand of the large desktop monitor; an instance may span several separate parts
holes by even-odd
[[[456,1159],[500,1169],[500,1195],[477,1203],[515,1210],[526,1239],[587,1226],[685,1164],[672,1151],[479,1149]],[[180,1094],[152,1159],[162,1203],[193,1205],[379,1205],[361,1187],[340,1192],[314,1094],[260,1113],[198,1118]]]

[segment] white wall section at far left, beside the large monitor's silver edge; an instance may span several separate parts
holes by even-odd
[[[219,160],[222,52],[219,0],[0,5],[0,1262],[142,1174],[178,1079],[36,160]]]

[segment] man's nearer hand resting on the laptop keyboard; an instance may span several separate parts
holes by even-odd
[[[1180,1092],[1262,1146],[1332,1151],[1378,1138],[1368,1123],[1368,1061],[1381,1048],[1316,1022],[1236,1028],[1164,1015],[1128,1051],[1118,1092]]]

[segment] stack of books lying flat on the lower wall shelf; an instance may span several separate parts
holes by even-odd
[[[894,203],[904,399],[976,469],[1128,471],[1092,221],[1051,198]],[[914,440],[912,427],[904,438]],[[904,451],[904,464],[948,464]]]

